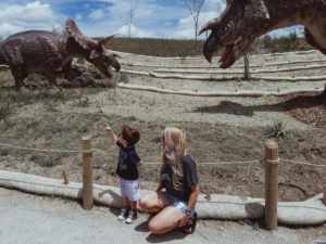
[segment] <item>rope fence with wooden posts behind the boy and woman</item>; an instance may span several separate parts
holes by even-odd
[[[9,146],[21,150],[39,151],[39,152],[59,152],[59,153],[83,153],[83,207],[84,209],[91,209],[93,206],[93,184],[92,184],[92,152],[110,155],[98,149],[91,146],[92,136],[88,134],[83,137],[82,150],[43,150],[35,147],[25,147],[1,143],[2,146]],[[318,144],[319,145],[319,144]],[[197,163],[198,166],[202,165],[235,165],[235,164],[255,164],[265,163],[265,208],[264,219],[267,230],[275,230],[277,228],[277,205],[278,205],[278,166],[279,163],[299,164],[313,167],[326,168],[326,165],[317,165],[311,163],[296,162],[284,159],[278,156],[278,144],[276,141],[268,139],[265,141],[265,157],[262,160],[243,160],[243,162],[208,162]],[[146,165],[161,165],[162,163],[145,163]],[[63,170],[65,184],[68,184],[67,174]],[[323,187],[323,201],[326,205],[326,185]],[[210,188],[206,185],[206,201],[211,201]],[[323,209],[324,210],[324,209]]]

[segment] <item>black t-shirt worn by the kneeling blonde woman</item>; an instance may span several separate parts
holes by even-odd
[[[172,182],[172,168],[170,165],[166,165],[161,172],[161,184],[166,189],[167,193],[188,202],[191,194],[191,185],[198,184],[196,164],[190,155],[185,155],[183,158],[183,175],[179,189],[174,189]]]

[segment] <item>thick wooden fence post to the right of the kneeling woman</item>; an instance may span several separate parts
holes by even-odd
[[[265,141],[265,226],[267,230],[277,228],[278,198],[278,144]]]

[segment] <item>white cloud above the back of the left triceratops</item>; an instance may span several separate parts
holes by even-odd
[[[48,29],[58,26],[54,14],[49,4],[39,1],[26,5],[7,5],[0,10],[0,36],[8,37],[17,31],[27,29]]]

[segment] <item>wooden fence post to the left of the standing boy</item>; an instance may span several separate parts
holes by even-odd
[[[89,152],[83,152],[83,207],[90,210],[93,205],[92,198],[92,152],[91,134],[84,136],[82,149]]]

